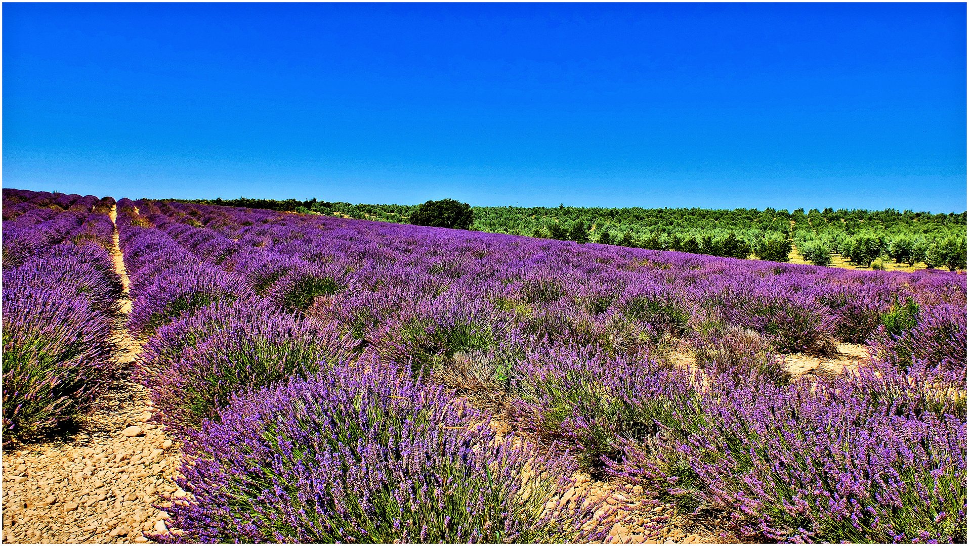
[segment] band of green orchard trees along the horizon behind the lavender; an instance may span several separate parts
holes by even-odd
[[[729,258],[806,261],[829,265],[837,254],[881,268],[888,259],[927,267],[966,267],[966,213],[885,209],[703,209],[604,207],[470,207],[453,199],[421,205],[199,199],[190,202],[316,213],[381,222],[459,227],[579,243],[594,242]],[[444,203],[444,204],[442,204]],[[460,225],[453,225],[460,219]]]

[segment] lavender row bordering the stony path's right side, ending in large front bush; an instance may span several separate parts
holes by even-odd
[[[264,296],[148,227],[164,224],[151,208],[118,203],[130,326],[147,336],[141,379],[184,440],[193,494],[170,510],[179,534],[159,540],[604,537],[606,521],[585,525],[601,501],[548,502],[572,485],[567,454],[498,438],[484,412],[363,353],[336,324],[281,310],[298,289],[280,281]]]

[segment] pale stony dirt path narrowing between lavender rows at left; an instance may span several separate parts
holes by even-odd
[[[115,208],[109,216],[114,222]],[[125,328],[131,301],[117,227],[112,239],[124,289],[114,341],[126,371],[70,438],[4,449],[4,542],[148,542],[142,531],[164,531],[168,518],[153,507],[159,496],[185,495],[172,481],[177,449],[161,427],[147,424],[147,392],[127,377],[141,345]]]

